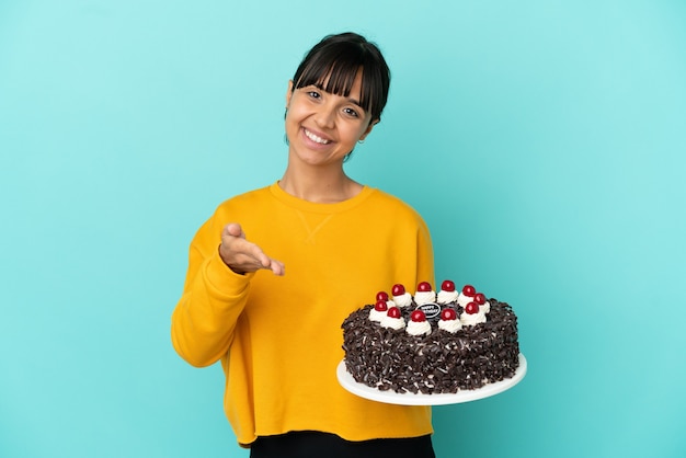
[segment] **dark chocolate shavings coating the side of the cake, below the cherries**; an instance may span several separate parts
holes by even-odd
[[[511,378],[519,365],[517,317],[510,305],[490,299],[488,321],[451,334],[432,323],[430,335],[382,328],[369,320],[371,305],[342,324],[345,366],[361,383],[381,391],[456,393]],[[450,307],[462,312],[456,304]],[[413,307],[401,309],[408,321]]]

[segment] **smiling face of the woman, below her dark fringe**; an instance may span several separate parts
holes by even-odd
[[[325,85],[325,84],[324,84]],[[359,106],[362,73],[348,96],[325,92],[317,85],[286,93],[286,135],[289,152],[308,164],[343,163],[358,140],[371,131],[371,115]]]

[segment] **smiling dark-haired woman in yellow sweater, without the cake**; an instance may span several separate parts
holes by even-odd
[[[358,398],[335,376],[353,310],[434,278],[422,218],[343,170],[389,83],[364,37],[317,44],[288,84],[284,175],[222,203],[191,243],[172,342],[194,366],[221,360],[225,411],[251,457],[434,456],[430,408]]]

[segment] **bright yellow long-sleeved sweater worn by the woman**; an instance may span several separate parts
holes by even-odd
[[[227,267],[218,245],[228,222],[283,261],[285,276]],[[425,435],[430,408],[358,398],[335,375],[343,320],[378,290],[422,280],[434,280],[428,230],[400,199],[365,186],[313,204],[274,183],[222,203],[195,234],[172,342],[194,366],[221,360],[225,411],[242,445],[305,430],[348,440]]]

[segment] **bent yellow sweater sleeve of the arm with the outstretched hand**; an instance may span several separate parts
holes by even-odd
[[[219,232],[211,228],[208,221],[191,244],[183,295],[172,313],[174,350],[196,367],[209,366],[228,352],[254,275],[237,274],[224,263]]]

